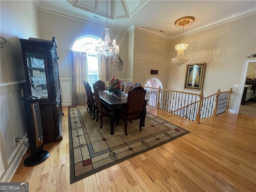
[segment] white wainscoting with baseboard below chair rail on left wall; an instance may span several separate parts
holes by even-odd
[[[26,136],[26,124],[20,92],[22,82],[2,83],[0,86],[0,170],[2,182],[10,182],[22,159],[22,155],[26,152],[26,147],[14,144],[14,137]]]

